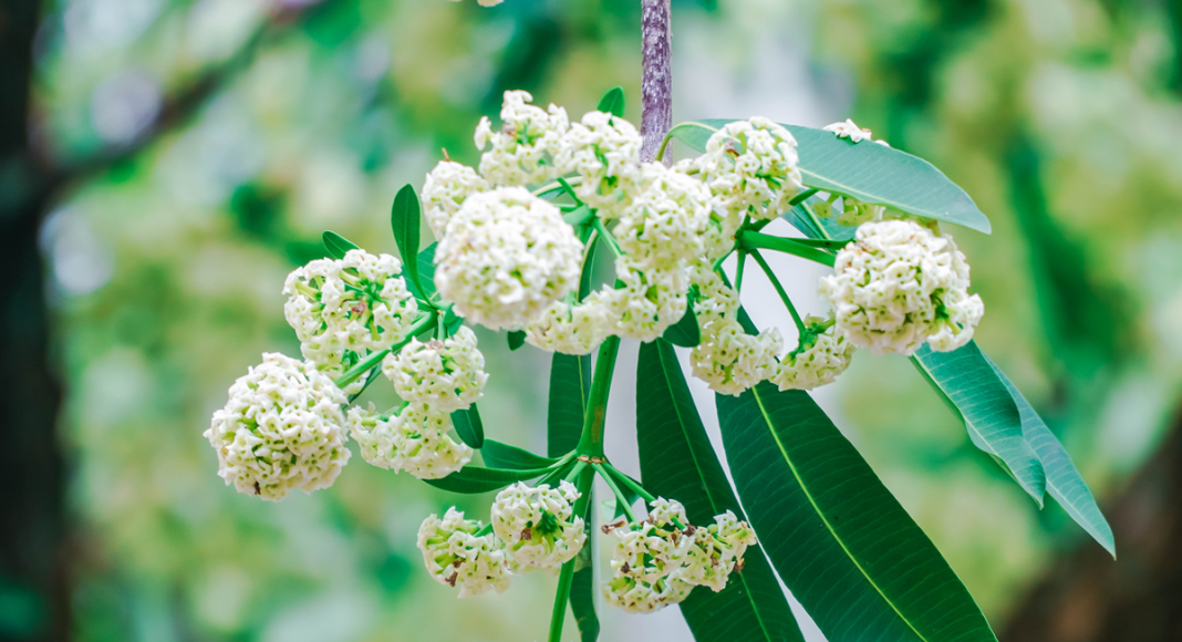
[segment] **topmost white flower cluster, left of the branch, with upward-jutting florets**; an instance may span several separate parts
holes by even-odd
[[[538,184],[556,174],[553,156],[570,128],[566,110],[528,104],[526,91],[506,91],[501,129],[493,131],[487,117],[476,125],[476,149],[492,148],[480,157],[480,175],[496,187]]]

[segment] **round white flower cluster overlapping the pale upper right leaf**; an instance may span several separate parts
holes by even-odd
[[[714,132],[697,167],[716,207],[741,219],[775,219],[804,189],[797,140],[767,118],[735,121]]]

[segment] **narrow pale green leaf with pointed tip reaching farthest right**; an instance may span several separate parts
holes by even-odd
[[[1116,558],[1116,539],[1112,537],[1112,527],[1109,526],[1099,506],[1096,505],[1096,498],[1092,497],[1084,478],[1076,469],[1076,465],[1071,462],[1071,455],[1067,454],[1063,443],[1047,428],[1043,419],[1038,416],[1021,391],[1009,381],[1009,377],[988,356],[982,355],[982,357],[1013,395],[1014,402],[1018,403],[1026,441],[1034,448],[1046,469],[1047,493],[1063,506],[1071,519],[1074,519],[1079,526],[1087,531],[1087,534],[1092,536],[1092,539]]]

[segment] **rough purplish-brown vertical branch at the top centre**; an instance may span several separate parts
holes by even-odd
[[[651,161],[673,127],[673,52],[669,0],[642,0],[641,160]],[[665,166],[671,156],[665,156]]]

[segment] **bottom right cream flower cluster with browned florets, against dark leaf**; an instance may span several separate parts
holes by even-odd
[[[613,575],[603,586],[606,602],[628,612],[652,612],[684,601],[694,586],[726,588],[755,533],[730,511],[714,519],[695,528],[680,502],[658,498],[639,524],[605,528],[616,540]]]

